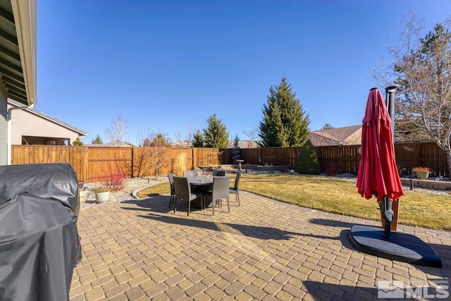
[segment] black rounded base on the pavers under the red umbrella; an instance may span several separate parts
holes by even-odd
[[[433,248],[411,234],[391,232],[391,238],[387,239],[383,228],[356,225],[350,230],[350,240],[357,250],[366,254],[409,264],[442,267]]]

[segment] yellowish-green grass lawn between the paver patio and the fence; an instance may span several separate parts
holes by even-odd
[[[234,174],[228,176],[235,177]],[[375,197],[365,199],[357,192],[355,183],[337,178],[245,173],[241,177],[240,190],[306,208],[381,220]],[[168,193],[169,183],[159,183],[141,190],[138,196]],[[402,225],[451,231],[451,195],[404,191],[400,198],[398,222]]]

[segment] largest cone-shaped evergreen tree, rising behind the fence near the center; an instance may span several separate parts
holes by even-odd
[[[283,77],[269,89],[259,125],[261,147],[300,147],[309,139],[309,114],[306,114]]]

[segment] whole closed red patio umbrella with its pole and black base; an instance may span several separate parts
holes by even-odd
[[[354,225],[350,231],[352,244],[362,252],[378,257],[414,264],[442,267],[437,253],[423,240],[407,233],[390,233],[393,221],[392,201],[403,195],[400,175],[395,162],[392,123],[396,86],[385,88],[387,106],[381,92],[369,92],[362,125],[362,145],[357,188],[360,195],[370,199],[376,195],[385,221],[381,228]],[[391,116],[391,118],[390,118]]]

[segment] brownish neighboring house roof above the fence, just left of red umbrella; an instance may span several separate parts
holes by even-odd
[[[362,140],[362,125],[351,125],[329,130],[314,130],[310,132],[311,144],[315,147],[330,145],[360,145]]]

